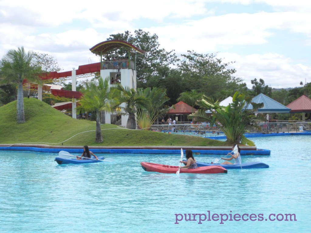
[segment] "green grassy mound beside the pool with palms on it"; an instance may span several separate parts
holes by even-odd
[[[103,142],[95,142],[95,121],[68,117],[35,98],[24,98],[25,118],[16,123],[16,101],[0,107],[0,144],[38,143],[72,146],[223,146],[225,142],[187,135],[101,125]],[[87,132],[89,131],[89,132]]]

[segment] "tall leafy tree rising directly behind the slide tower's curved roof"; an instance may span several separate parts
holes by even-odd
[[[151,35],[150,32],[143,31],[142,29],[135,30],[134,33],[134,36],[130,31],[111,34],[107,39],[124,40],[146,52],[144,55],[139,55],[136,58],[137,87],[151,87],[151,85],[148,85],[149,80],[154,80],[154,77],[157,79],[165,77],[165,74],[169,72],[169,65],[174,64],[178,59],[174,50],[167,52],[165,49],[160,48],[156,34]],[[114,54],[124,56],[125,53],[125,50],[119,49]]]

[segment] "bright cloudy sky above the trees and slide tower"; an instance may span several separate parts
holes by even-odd
[[[311,82],[310,13],[307,0],[0,0],[0,57],[24,46],[69,71],[99,62],[89,48],[110,34],[142,29],[178,55],[218,52],[249,88],[297,87]]]

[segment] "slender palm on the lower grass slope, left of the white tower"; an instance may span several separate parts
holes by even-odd
[[[81,90],[83,95],[79,99],[77,111],[96,112],[96,139],[100,143],[103,141],[100,128],[100,111],[111,112],[109,100],[111,92],[109,87],[109,77],[103,80],[101,77],[85,82],[85,89]]]

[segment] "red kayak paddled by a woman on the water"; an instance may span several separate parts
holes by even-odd
[[[142,165],[142,168],[145,171],[156,171],[161,173],[176,173],[178,171],[178,166],[170,166],[151,162],[141,162],[140,165]],[[181,168],[179,171],[179,173],[201,173],[201,174],[227,173],[227,172],[228,172],[227,169],[220,166],[206,166],[194,169]]]

